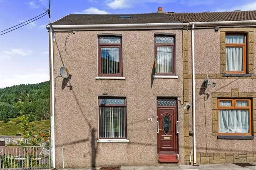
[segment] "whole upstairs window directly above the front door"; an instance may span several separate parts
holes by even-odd
[[[155,36],[155,75],[174,75],[174,36]]]

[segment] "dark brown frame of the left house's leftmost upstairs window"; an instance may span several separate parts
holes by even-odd
[[[100,37],[120,37],[120,43],[119,44],[105,44],[105,43],[99,43]],[[102,73],[102,58],[101,58],[101,48],[102,47],[117,47],[119,48],[119,74],[103,74]],[[122,37],[121,36],[113,36],[113,35],[104,35],[104,36],[98,36],[98,76],[110,76],[110,77],[122,77],[123,76],[123,67],[122,67]]]

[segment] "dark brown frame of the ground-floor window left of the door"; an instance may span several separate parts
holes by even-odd
[[[123,99],[124,103],[123,104],[102,104],[101,99]],[[99,121],[99,139],[127,139],[127,112],[126,112],[126,97],[112,97],[112,96],[104,96],[104,97],[99,97],[98,98],[98,106],[99,106],[99,113],[98,113],[98,121]],[[101,124],[101,117],[100,117],[100,110],[101,108],[110,108],[110,107],[117,107],[117,108],[124,108],[124,137],[122,138],[114,138],[114,137],[101,137],[101,130],[102,124]]]

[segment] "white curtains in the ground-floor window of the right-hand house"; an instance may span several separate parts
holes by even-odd
[[[220,106],[231,106],[230,101],[220,101]],[[247,101],[236,101],[236,106],[248,106]],[[219,133],[249,133],[249,110],[219,110]]]

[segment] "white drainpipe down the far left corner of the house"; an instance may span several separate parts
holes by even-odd
[[[55,169],[55,97],[54,97],[54,66],[53,66],[53,33],[50,32],[50,44],[51,44],[51,86],[52,86],[52,115],[51,115],[51,156],[52,166]]]

